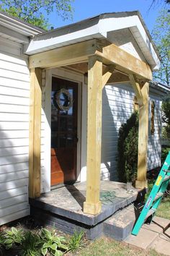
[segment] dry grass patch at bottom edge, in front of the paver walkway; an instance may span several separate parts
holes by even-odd
[[[123,242],[117,242],[113,239],[102,237],[100,239],[91,242],[81,251],[77,252],[79,256],[160,256],[155,250],[151,249],[145,251],[142,249],[135,249],[128,247]]]

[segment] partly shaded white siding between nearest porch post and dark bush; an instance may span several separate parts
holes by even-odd
[[[117,138],[120,126],[133,113],[133,88],[106,85],[102,108],[102,179],[118,181]]]

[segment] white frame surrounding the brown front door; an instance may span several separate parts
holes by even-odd
[[[81,172],[81,98],[82,98],[82,86],[84,84],[84,74],[79,74],[72,70],[64,68],[46,69],[45,70],[45,171],[42,176],[43,179],[43,192],[49,192],[51,190],[50,185],[50,146],[51,146],[51,88],[52,88],[52,77],[58,77],[64,80],[70,80],[77,82],[78,88],[78,116],[77,116],[77,136],[79,138],[77,143],[77,166],[76,176],[77,182],[80,182]],[[54,188],[54,187],[53,187]]]

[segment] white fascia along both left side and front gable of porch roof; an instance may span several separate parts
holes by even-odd
[[[91,38],[107,38],[107,33],[115,30],[129,28],[133,33],[143,55],[145,56],[148,64],[151,65],[153,70],[158,69],[160,61],[158,55],[153,48],[151,40],[149,40],[145,28],[138,15],[129,17],[106,17],[99,19],[96,25],[91,25],[85,29],[76,30],[63,35],[56,35],[50,37],[50,33],[42,34],[40,37],[37,35],[32,38],[29,46],[25,50],[25,54],[32,55],[42,51],[48,51],[51,48],[58,48],[63,45],[88,40]],[[46,36],[46,38],[45,38]],[[87,39],[88,38],[88,39]]]

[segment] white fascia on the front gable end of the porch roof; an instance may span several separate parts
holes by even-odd
[[[145,28],[138,15],[133,15],[130,17],[112,17],[99,20],[99,32],[102,33],[107,30],[107,32],[121,30],[125,28],[130,28],[135,40],[138,43],[143,55],[153,70],[157,70],[160,67],[160,61],[153,48],[151,40],[149,40]]]

